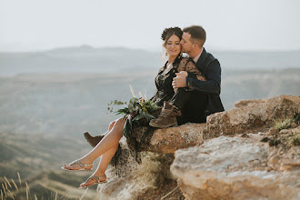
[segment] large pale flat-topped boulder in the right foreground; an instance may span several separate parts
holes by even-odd
[[[299,155],[299,147],[292,151]],[[171,172],[185,199],[298,199],[300,169],[269,170],[270,162],[285,163],[272,152],[252,138],[220,136],[176,151]]]

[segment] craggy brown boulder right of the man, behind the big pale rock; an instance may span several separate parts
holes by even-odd
[[[235,108],[209,115],[207,132],[209,135],[235,135],[264,131],[276,120],[295,115],[300,111],[300,96],[279,95],[264,100],[244,100]]]

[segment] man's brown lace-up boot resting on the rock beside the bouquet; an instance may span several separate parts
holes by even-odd
[[[175,105],[164,102],[164,108],[158,118],[152,119],[149,125],[157,128],[166,128],[171,125],[177,125],[176,116],[180,115],[180,111]]]

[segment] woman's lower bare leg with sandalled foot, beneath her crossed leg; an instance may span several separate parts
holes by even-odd
[[[95,170],[95,173],[93,175],[100,177],[99,181],[105,181],[106,176],[105,176],[105,170],[107,166],[109,165],[110,161],[112,160],[113,156],[115,155],[115,152],[117,150],[118,145],[115,145],[115,147],[112,147],[108,151],[105,152],[104,155],[101,156],[100,163]],[[90,178],[87,179],[85,183],[82,183],[80,186],[84,187],[85,185],[92,185],[95,183],[95,179]]]

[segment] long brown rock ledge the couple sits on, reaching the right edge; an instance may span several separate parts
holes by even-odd
[[[269,99],[243,100],[235,108],[209,115],[206,124],[189,124],[157,129],[145,151],[160,154],[201,145],[220,135],[235,135],[266,131],[276,120],[285,119],[300,111],[300,97],[280,95]],[[143,141],[141,141],[143,143]]]

